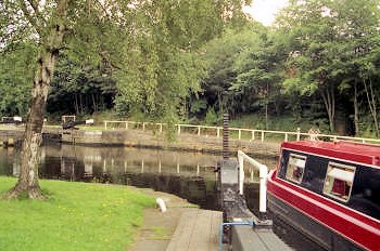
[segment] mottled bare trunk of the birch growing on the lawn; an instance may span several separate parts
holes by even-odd
[[[43,199],[38,183],[38,166],[40,161],[40,144],[42,142],[42,124],[48,91],[53,77],[54,65],[64,36],[63,18],[68,0],[58,3],[55,11],[56,23],[45,38],[37,58],[37,70],[31,90],[29,113],[26,119],[25,135],[21,154],[21,172],[18,182],[8,193],[8,198],[17,198],[25,194],[33,199]]]

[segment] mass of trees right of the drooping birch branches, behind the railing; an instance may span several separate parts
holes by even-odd
[[[269,29],[227,30],[205,49],[202,108],[379,136],[379,11],[372,0],[293,0]]]

